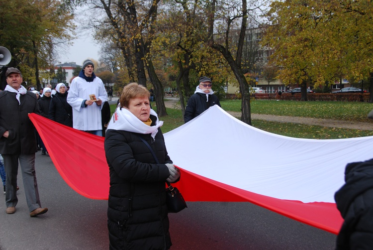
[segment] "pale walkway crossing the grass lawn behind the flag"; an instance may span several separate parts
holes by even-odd
[[[165,101],[166,108],[180,109],[177,98],[167,98]],[[228,113],[236,118],[241,117],[240,112]],[[289,117],[289,116],[273,116],[273,115],[260,115],[251,114],[253,120],[265,120],[279,123],[294,123],[294,124],[306,124],[306,125],[318,125],[325,127],[337,127],[337,128],[349,128],[349,129],[360,129],[360,130],[373,130],[373,122],[353,122],[353,121],[342,121],[334,119],[320,119],[320,118],[307,118],[307,117]]]

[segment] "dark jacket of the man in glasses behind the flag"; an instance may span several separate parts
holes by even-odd
[[[218,105],[220,106],[219,99],[214,94],[208,95],[202,93],[194,93],[188,100],[187,107],[185,108],[184,122],[187,123],[193,118],[196,118],[203,112],[205,112],[211,106]]]

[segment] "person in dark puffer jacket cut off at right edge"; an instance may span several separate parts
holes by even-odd
[[[345,220],[337,236],[336,250],[372,250],[373,159],[347,164],[345,181],[334,196]]]

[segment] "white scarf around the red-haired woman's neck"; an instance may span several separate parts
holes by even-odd
[[[158,127],[163,125],[163,121],[158,120],[157,113],[154,110],[150,110],[150,115],[153,115],[157,118],[156,125],[148,126],[144,124],[140,119],[135,117],[129,110],[118,106],[116,108],[113,116],[110,119],[109,125],[107,125],[107,129],[115,129],[115,130],[125,130],[134,133],[142,133],[148,134],[151,133],[153,139],[158,132]]]

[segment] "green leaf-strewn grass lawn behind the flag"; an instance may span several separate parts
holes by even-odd
[[[241,112],[241,100],[221,101],[221,107],[226,111]],[[153,107],[156,110],[156,107]],[[110,106],[111,112],[115,105]],[[312,117],[336,120],[369,122],[368,113],[373,109],[371,103],[360,102],[295,102],[295,101],[252,101],[253,114],[267,114],[278,116]],[[184,124],[181,110],[166,109],[167,117],[162,131],[168,132]],[[309,139],[339,139],[371,136],[373,131],[302,125],[291,123],[277,123],[262,120],[252,120],[252,125],[276,134]]]

